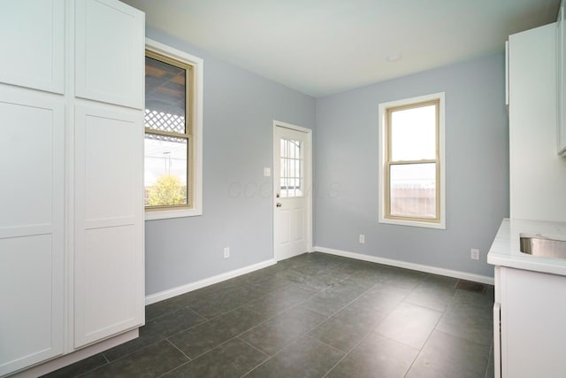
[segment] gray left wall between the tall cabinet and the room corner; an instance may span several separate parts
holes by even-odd
[[[203,216],[146,221],[146,295],[273,258],[272,122],[313,128],[315,100],[157,30],[204,59]],[[230,246],[231,258],[223,258]]]

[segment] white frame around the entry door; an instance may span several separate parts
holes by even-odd
[[[304,172],[305,172],[305,176],[306,179],[304,181],[304,187],[305,187],[305,191],[304,191],[304,198],[306,200],[306,208],[307,208],[307,212],[306,212],[306,238],[307,238],[307,252],[310,253],[312,252],[312,130],[310,128],[307,127],[301,127],[301,126],[297,126],[297,125],[293,125],[287,122],[281,122],[279,120],[273,120],[273,144],[272,144],[272,155],[273,155],[273,179],[272,179],[272,183],[273,183],[273,192],[272,192],[272,246],[273,246],[273,258],[277,261],[279,261],[279,259],[277,258],[277,256],[275,256],[275,243],[276,243],[276,238],[275,238],[275,232],[277,231],[275,229],[275,217],[276,217],[276,212],[275,212],[275,206],[277,204],[277,191],[279,189],[279,182],[275,182],[275,165],[279,164],[279,156],[275,156],[275,143],[279,143],[279,141],[277,140],[277,127],[282,127],[282,128],[288,128],[290,130],[294,130],[294,131],[299,131],[302,133],[305,133],[307,135],[307,143],[305,146],[305,150],[304,150]]]

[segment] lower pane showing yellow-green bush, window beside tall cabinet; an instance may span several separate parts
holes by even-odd
[[[187,204],[187,139],[145,135],[145,205]]]

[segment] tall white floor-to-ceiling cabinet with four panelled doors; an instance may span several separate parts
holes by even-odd
[[[2,7],[0,376],[72,362],[144,321],[144,14],[117,0]]]

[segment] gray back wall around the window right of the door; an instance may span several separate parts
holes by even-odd
[[[317,99],[316,245],[493,275],[486,251],[509,217],[504,81],[498,54]],[[380,224],[378,104],[436,92],[446,93],[447,229]]]

